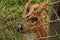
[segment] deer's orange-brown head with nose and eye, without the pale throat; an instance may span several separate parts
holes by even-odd
[[[29,8],[26,8],[25,13],[26,10],[28,10],[28,13],[24,16],[24,22],[18,26],[18,30],[20,32],[28,32],[29,34],[33,32],[34,34],[36,34],[36,37],[40,37],[40,34],[42,36],[46,36],[46,32],[43,29],[43,27],[46,27],[46,25],[43,24],[46,23],[46,20],[44,19],[46,12],[44,10],[40,12],[45,5],[45,3],[42,3],[42,5],[33,4],[30,5]],[[40,25],[41,23],[42,25]]]

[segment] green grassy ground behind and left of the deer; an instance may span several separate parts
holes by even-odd
[[[28,0],[0,0],[0,40],[22,40],[21,34],[16,31],[22,20],[24,4]],[[41,3],[46,0],[34,0]]]

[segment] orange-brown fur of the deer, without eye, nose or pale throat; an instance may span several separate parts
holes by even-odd
[[[47,2],[43,2],[41,5],[39,4],[30,4],[30,3],[26,3],[25,5],[25,13],[23,14],[24,18],[26,18],[27,16],[29,16],[29,18],[31,17],[37,17],[38,18],[38,21],[35,21],[35,22],[32,22],[32,20],[29,20],[28,22],[24,22],[24,30],[25,32],[28,32],[28,33],[35,33],[36,35],[36,38],[35,40],[40,40],[40,37],[46,37],[47,36],[47,33],[46,33],[46,19],[45,19],[45,16],[46,16],[46,11],[45,10],[42,10],[45,6],[47,6]],[[29,7],[29,12],[28,14],[26,14],[26,9],[27,7]],[[36,9],[34,11],[34,9]],[[26,37],[25,37],[26,34],[23,35],[23,40],[26,40]],[[43,39],[43,40],[46,40],[46,39]]]

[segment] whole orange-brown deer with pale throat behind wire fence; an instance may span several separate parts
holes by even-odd
[[[44,8],[48,2],[41,4],[31,4],[27,2],[22,17],[24,22],[18,26],[18,30],[22,33],[22,40],[47,40],[47,12]],[[34,35],[34,36],[32,36]]]

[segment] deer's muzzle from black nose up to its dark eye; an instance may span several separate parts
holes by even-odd
[[[23,30],[29,30],[29,29],[33,29],[34,26],[38,26],[39,25],[39,21],[37,17],[31,17],[30,19],[27,19],[23,24],[18,26],[18,29],[20,32],[22,32]]]

